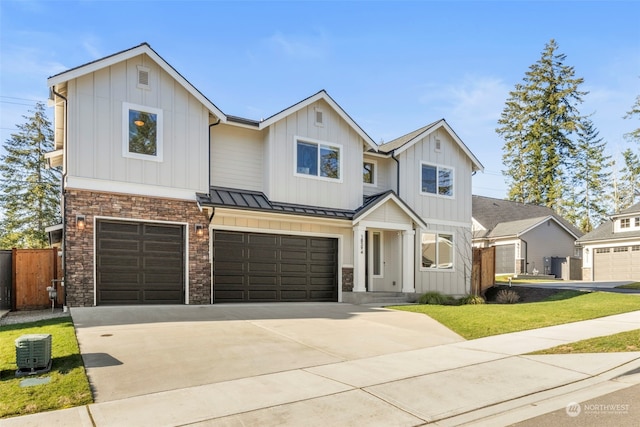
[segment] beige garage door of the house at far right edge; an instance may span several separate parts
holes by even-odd
[[[594,280],[640,280],[640,246],[597,248],[593,255]]]

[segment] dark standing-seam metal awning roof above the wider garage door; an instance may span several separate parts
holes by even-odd
[[[197,193],[196,200],[201,206],[277,212],[345,220],[353,219],[355,214],[355,211],[351,210],[272,202],[264,195],[264,193],[259,191],[238,190],[223,187],[211,187],[209,189],[209,194]]]

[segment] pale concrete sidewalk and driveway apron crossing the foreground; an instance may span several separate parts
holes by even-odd
[[[524,354],[634,329],[640,329],[640,311],[138,395],[0,425],[511,425],[640,384],[640,352]],[[575,411],[560,419],[589,420],[586,411],[571,415]],[[617,426],[631,425],[618,416]]]

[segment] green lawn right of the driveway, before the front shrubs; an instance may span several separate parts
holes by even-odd
[[[640,310],[637,295],[566,291],[543,302],[482,305],[388,307],[423,313],[466,339],[560,325]]]

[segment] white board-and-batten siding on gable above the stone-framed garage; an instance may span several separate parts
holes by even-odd
[[[138,66],[149,69],[148,89],[138,87]],[[69,187],[107,181],[111,191],[133,184],[139,194],[148,186],[191,198],[208,190],[209,111],[146,55],[71,80],[67,94]],[[123,156],[123,103],[162,110],[162,161]]]

